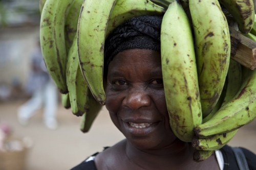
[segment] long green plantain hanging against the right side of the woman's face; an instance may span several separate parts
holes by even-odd
[[[163,17],[161,60],[170,127],[180,140],[191,142],[202,112],[193,36],[178,1],[169,5]]]

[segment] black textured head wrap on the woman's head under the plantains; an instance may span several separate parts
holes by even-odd
[[[160,31],[163,16],[138,16],[123,22],[105,40],[104,68],[118,53],[132,49],[160,52]]]

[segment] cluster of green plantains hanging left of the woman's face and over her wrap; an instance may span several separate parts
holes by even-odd
[[[105,103],[105,37],[127,19],[163,15],[165,9],[137,0],[40,0],[39,9],[41,50],[47,69],[61,93],[63,107],[82,116],[80,129],[88,132]]]

